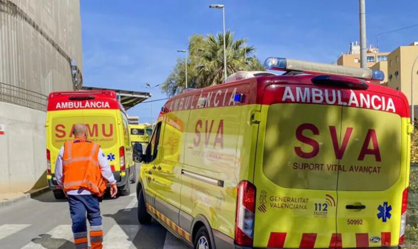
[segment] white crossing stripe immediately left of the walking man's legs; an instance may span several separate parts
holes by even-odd
[[[59,225],[46,234],[41,233],[22,249],[57,249],[69,243],[74,243],[71,225]]]

